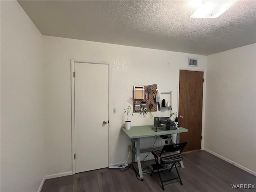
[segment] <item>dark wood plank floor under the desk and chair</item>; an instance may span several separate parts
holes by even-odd
[[[166,182],[165,191],[170,192],[255,192],[256,189],[232,189],[231,184],[256,184],[256,176],[225,162],[206,152],[193,151],[183,155],[184,169],[179,173],[183,182]],[[142,162],[143,166],[153,161]],[[162,171],[164,176],[168,171]],[[175,169],[172,170],[175,174]],[[255,185],[256,186],[256,185]],[[70,176],[45,180],[41,192],[162,192],[157,173],[152,177],[144,174],[144,181],[136,178],[135,172],[128,169],[99,169]]]

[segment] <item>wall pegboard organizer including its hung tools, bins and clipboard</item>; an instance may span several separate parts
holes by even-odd
[[[156,84],[134,85],[133,111],[140,112],[142,108],[146,108],[148,111],[150,111],[149,104],[153,104],[151,111],[157,111],[156,99],[153,96],[153,92],[156,89]]]

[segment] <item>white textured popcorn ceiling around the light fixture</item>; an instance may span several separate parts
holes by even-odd
[[[209,55],[256,42],[256,1],[190,18],[191,1],[18,1],[43,35]]]

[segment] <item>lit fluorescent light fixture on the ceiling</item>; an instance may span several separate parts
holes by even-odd
[[[236,0],[204,0],[191,18],[217,18],[228,10]]]

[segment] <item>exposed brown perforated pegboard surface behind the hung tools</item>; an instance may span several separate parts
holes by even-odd
[[[150,85],[144,85],[144,90],[145,90],[144,94],[146,94],[146,92],[148,93],[149,86]],[[153,89],[153,91],[156,90],[157,89],[157,85],[156,84],[152,85],[152,89]],[[144,99],[136,99],[136,100],[134,99],[134,102],[133,102],[133,112],[140,112],[140,110],[139,111],[135,110],[135,104],[136,104],[135,101],[137,101],[138,104],[140,104],[140,109],[144,107],[144,108],[147,108],[148,111],[149,111],[150,109],[149,109],[148,105],[150,103],[152,103],[153,104],[153,108],[151,109],[151,111],[157,111],[157,103],[156,103],[156,99],[154,98],[153,94],[148,94],[148,98],[146,98],[146,96],[144,95]],[[146,106],[142,106],[141,105],[142,101],[146,101]]]

